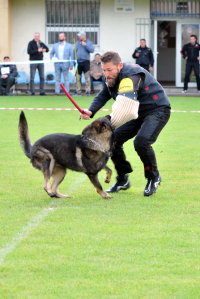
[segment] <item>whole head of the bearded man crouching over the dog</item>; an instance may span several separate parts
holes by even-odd
[[[123,68],[121,57],[117,52],[108,51],[100,59],[108,86],[114,87],[119,78],[119,73]]]

